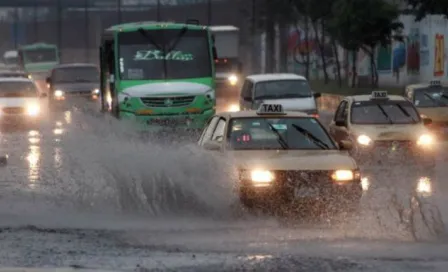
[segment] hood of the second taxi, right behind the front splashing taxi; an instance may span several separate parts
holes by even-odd
[[[421,135],[429,133],[423,124],[354,125],[351,131],[355,136],[367,135],[373,141],[416,141]]]

